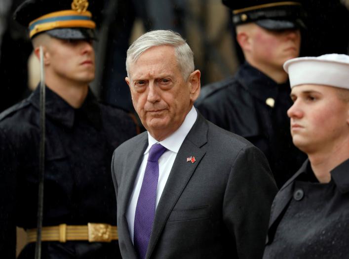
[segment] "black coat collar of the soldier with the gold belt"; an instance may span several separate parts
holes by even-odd
[[[87,96],[78,109],[70,106],[61,96],[46,87],[46,115],[53,120],[56,120],[68,128],[72,128],[76,112],[81,112],[88,121],[96,128],[101,127],[101,114],[97,98],[92,91],[88,89]],[[40,87],[29,96],[29,101],[39,109]]]

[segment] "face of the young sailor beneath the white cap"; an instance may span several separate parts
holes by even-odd
[[[294,86],[294,101],[287,111],[293,143],[308,155],[331,152],[349,139],[349,103],[338,97],[336,87]],[[348,143],[347,143],[348,145]]]

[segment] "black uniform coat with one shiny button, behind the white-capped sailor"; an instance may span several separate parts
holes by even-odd
[[[202,87],[195,103],[207,120],[263,151],[279,188],[306,159],[292,143],[290,91],[288,83],[278,85],[245,62],[234,77]]]

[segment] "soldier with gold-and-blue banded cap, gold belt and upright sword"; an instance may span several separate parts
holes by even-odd
[[[26,0],[15,19],[28,26],[34,51],[43,49],[46,141],[42,259],[121,258],[114,149],[136,134],[122,110],[97,102],[95,23],[87,0]],[[19,258],[34,258],[39,175],[39,88],[0,114],[0,257],[15,258],[15,226],[28,244]]]

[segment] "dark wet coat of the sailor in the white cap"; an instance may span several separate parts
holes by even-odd
[[[319,183],[307,160],[271,206],[264,259],[349,256],[349,159]]]

